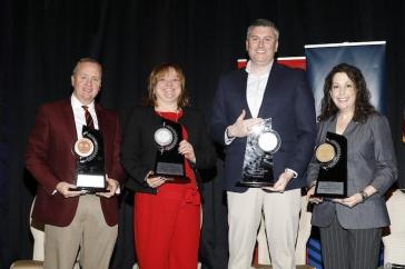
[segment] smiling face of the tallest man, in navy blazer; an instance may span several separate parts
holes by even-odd
[[[277,52],[278,40],[273,28],[254,27],[246,39],[246,51],[256,66],[269,64]]]

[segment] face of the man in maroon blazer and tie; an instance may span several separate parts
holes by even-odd
[[[75,97],[82,103],[89,104],[95,100],[101,87],[101,69],[95,62],[80,62],[71,76]]]

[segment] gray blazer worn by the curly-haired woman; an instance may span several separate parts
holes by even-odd
[[[326,132],[335,132],[336,117],[318,123],[317,145]],[[350,121],[343,136],[347,139],[347,196],[372,185],[377,192],[353,208],[324,201],[314,207],[312,223],[328,227],[336,212],[342,227],[368,229],[389,225],[384,193],[397,178],[396,159],[387,119],[381,114],[369,116],[366,122]],[[307,182],[317,179],[319,165],[313,157]]]

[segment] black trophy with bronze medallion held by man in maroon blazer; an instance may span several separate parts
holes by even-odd
[[[75,185],[89,193],[106,192],[103,141],[99,130],[83,126],[82,138],[73,146],[77,157]]]

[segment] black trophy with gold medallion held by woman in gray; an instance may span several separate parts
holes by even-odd
[[[347,197],[347,140],[344,136],[327,132],[326,139],[318,145],[315,157],[319,162],[319,173],[315,197]]]

